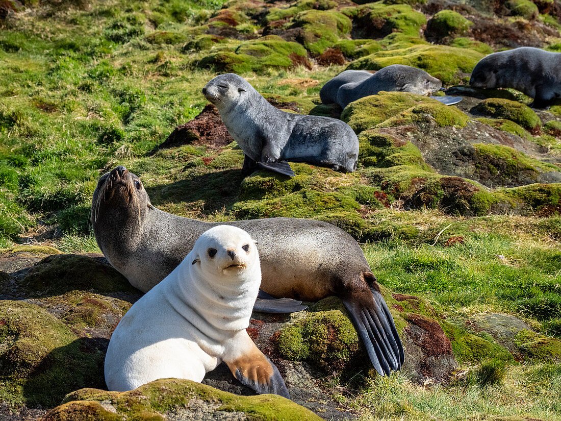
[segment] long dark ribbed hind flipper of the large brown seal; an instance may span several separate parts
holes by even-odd
[[[376,371],[384,376],[399,370],[404,360],[403,346],[380,292],[365,287],[364,291],[353,292],[344,298],[343,304]]]

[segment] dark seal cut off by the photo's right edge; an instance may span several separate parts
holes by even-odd
[[[548,108],[561,97],[561,53],[520,47],[489,54],[471,74],[475,88],[514,88],[534,98],[534,108]]]

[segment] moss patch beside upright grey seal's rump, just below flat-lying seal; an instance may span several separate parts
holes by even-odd
[[[399,112],[421,103],[438,103],[422,95],[408,92],[385,92],[364,97],[348,104],[341,113],[341,120],[360,134],[361,131],[375,127]]]

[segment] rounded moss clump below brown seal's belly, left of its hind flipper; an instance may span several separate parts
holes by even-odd
[[[340,310],[313,313],[281,330],[276,347],[288,360],[309,361],[328,371],[341,370],[360,353],[358,336]]]

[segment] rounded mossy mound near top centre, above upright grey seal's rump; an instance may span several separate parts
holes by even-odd
[[[302,44],[312,54],[323,54],[351,31],[351,20],[335,10],[306,10],[292,19],[291,28],[302,28]]]

